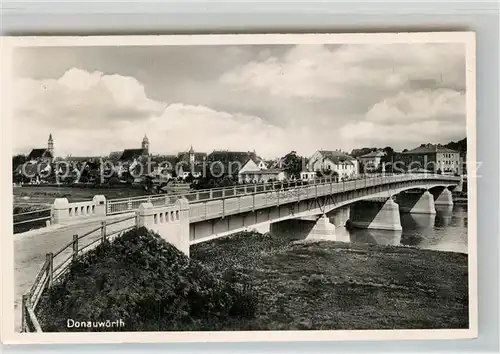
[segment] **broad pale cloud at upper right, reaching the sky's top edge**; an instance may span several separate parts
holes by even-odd
[[[464,46],[458,44],[298,45],[281,59],[253,61],[221,82],[243,91],[300,98],[357,94],[357,88],[398,90],[412,80],[464,85]]]

